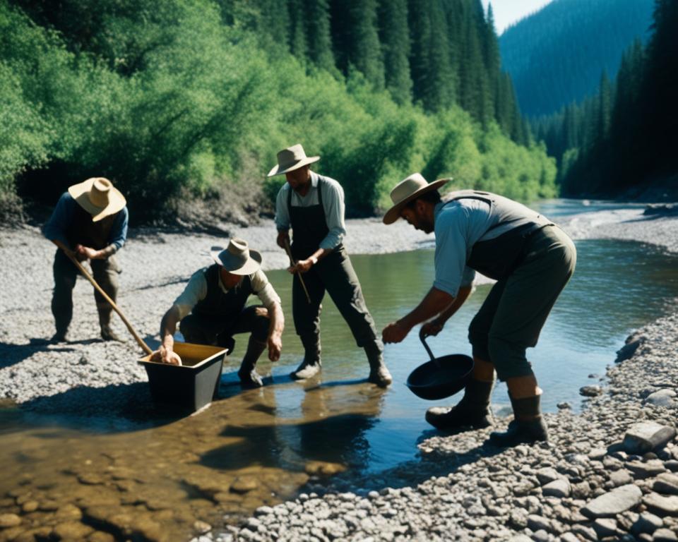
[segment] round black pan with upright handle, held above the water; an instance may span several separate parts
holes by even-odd
[[[451,354],[436,358],[426,344],[422,332],[419,338],[429,354],[431,361],[417,367],[405,383],[412,393],[422,399],[436,400],[450,397],[466,387],[471,371],[473,359],[464,354]]]

